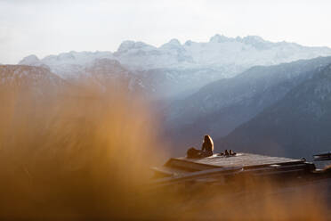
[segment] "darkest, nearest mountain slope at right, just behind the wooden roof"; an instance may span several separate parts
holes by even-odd
[[[331,148],[331,64],[216,141],[219,148],[311,157]]]

